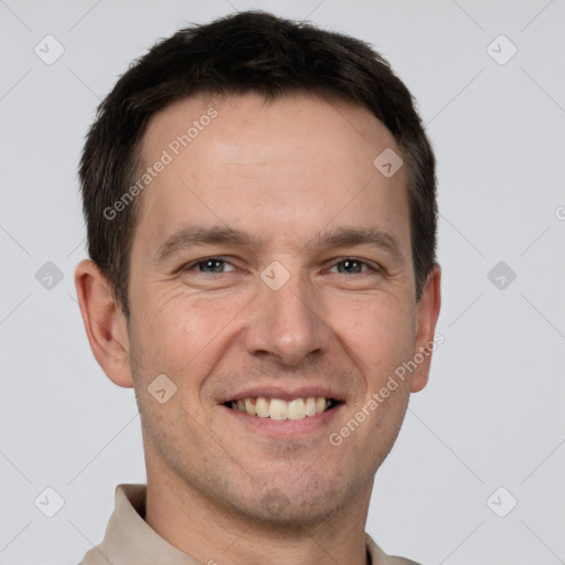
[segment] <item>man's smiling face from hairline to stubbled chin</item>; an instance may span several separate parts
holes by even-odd
[[[153,116],[145,166],[171,161],[140,196],[135,362],[114,372],[136,388],[148,479],[280,523],[369,498],[425,375],[380,391],[437,318],[431,290],[415,301],[405,167],[373,164],[387,148],[369,110],[299,95]]]

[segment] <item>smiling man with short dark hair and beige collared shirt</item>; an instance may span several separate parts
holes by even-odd
[[[414,563],[364,527],[436,344],[434,167],[387,63],[303,23],[182,30],[118,81],[75,284],[147,488],[84,565]]]

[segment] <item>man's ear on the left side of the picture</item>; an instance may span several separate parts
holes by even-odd
[[[85,259],[76,267],[75,288],[96,361],[110,381],[132,387],[127,320],[107,278],[94,262]]]

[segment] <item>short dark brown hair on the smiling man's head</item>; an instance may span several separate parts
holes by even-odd
[[[113,220],[105,213],[135,182],[149,118],[194,94],[289,92],[330,96],[369,108],[393,134],[408,171],[416,300],[436,262],[435,158],[414,99],[367,43],[263,11],[192,25],[136,60],[99,105],[79,178],[88,255],[129,319],[128,281],[140,198]],[[375,156],[376,157],[376,156]]]

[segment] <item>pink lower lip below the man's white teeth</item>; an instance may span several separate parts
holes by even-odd
[[[280,438],[306,436],[315,431],[319,431],[320,429],[328,428],[330,423],[338,416],[342,406],[343,403],[340,403],[329,411],[317,414],[316,416],[307,416],[302,419],[271,419],[252,416],[246,412],[236,411],[221,405],[222,408],[227,411],[228,414],[243,425],[250,426],[256,431],[267,436]]]

